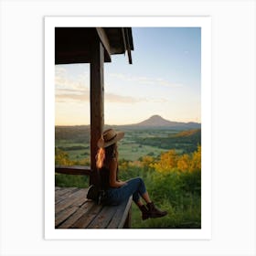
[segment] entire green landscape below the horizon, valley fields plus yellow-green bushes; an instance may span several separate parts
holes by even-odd
[[[115,128],[117,129],[117,128]],[[118,129],[117,129],[118,130]],[[163,219],[141,220],[133,204],[133,229],[201,228],[201,130],[121,129],[119,178],[141,176]],[[56,128],[56,165],[90,165],[87,126]],[[87,176],[55,176],[59,187],[88,187]]]

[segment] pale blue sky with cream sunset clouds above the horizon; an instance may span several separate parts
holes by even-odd
[[[104,64],[104,123],[140,123],[158,114],[201,122],[200,27],[133,27],[133,64]],[[55,66],[56,125],[90,124],[90,65]]]

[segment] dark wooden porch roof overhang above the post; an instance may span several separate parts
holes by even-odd
[[[132,64],[133,34],[131,27],[56,27],[55,64],[90,63],[91,47],[101,41],[104,62],[113,54],[125,54]]]

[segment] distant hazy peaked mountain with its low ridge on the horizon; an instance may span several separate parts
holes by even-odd
[[[173,122],[168,121],[161,117],[160,115],[153,115],[150,118],[144,120],[141,123],[135,123],[131,126],[136,127],[144,127],[144,128],[150,128],[150,127],[163,127],[163,128],[176,128],[176,129],[199,129],[201,128],[200,123],[181,123],[181,122]]]

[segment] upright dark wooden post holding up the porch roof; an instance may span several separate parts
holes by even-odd
[[[99,185],[95,156],[97,142],[104,126],[104,48],[101,41],[91,46],[91,179],[90,184]]]

